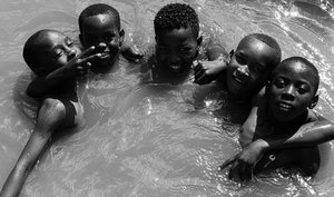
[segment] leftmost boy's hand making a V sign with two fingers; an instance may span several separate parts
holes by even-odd
[[[104,46],[101,46],[104,47]],[[97,48],[101,48],[97,47]],[[96,47],[89,47],[80,55],[72,58],[66,66],[65,69],[67,69],[69,75],[73,76],[82,76],[88,72],[88,69],[91,67],[91,61],[98,59],[101,57],[101,53],[92,53],[92,51],[96,50]]]

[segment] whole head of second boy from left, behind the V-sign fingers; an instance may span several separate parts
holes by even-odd
[[[95,63],[99,67],[112,66],[124,41],[118,11],[108,4],[91,4],[80,13],[79,29],[84,48],[99,43],[107,46],[102,51],[102,57]]]

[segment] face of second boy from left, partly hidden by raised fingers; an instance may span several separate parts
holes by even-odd
[[[111,14],[97,14],[84,19],[80,29],[80,41],[85,48],[106,43],[102,57],[97,60],[98,66],[111,66],[119,47],[122,43],[124,31],[119,31]]]

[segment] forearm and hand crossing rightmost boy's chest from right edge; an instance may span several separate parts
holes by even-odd
[[[272,136],[266,139],[257,139],[245,147],[239,154],[226,160],[220,169],[232,165],[229,178],[239,177],[242,180],[252,178],[253,169],[264,152],[292,148],[315,146],[334,139],[334,125],[328,120],[320,120],[303,125],[293,136]]]

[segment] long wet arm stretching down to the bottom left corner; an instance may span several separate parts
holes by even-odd
[[[0,191],[1,197],[19,196],[27,177],[45,151],[52,132],[63,120],[65,114],[65,107],[60,101],[56,99],[43,101],[38,112],[37,125]]]

